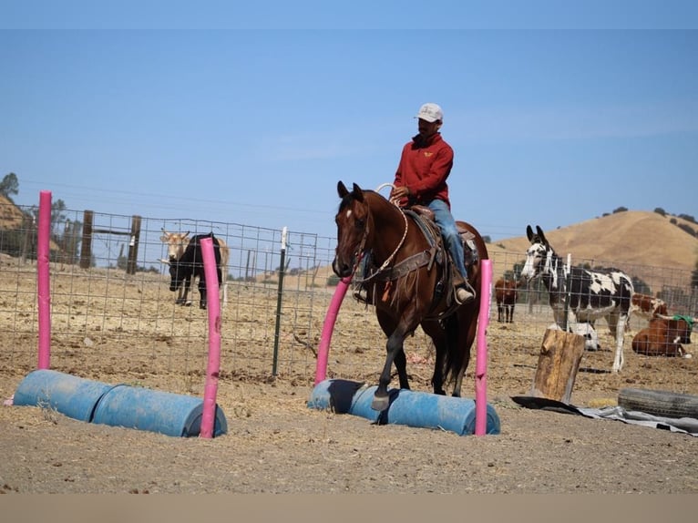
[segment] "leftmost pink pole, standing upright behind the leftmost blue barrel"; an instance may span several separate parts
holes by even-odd
[[[49,281],[51,237],[51,191],[39,191],[39,230],[36,244],[36,287],[39,314],[38,368],[47,369],[51,362],[51,285]]]

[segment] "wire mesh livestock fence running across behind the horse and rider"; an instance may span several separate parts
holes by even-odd
[[[29,210],[24,210],[27,215]],[[312,382],[327,308],[337,282],[331,263],[335,239],[288,231],[282,266],[282,231],[204,220],[153,219],[93,213],[86,258],[84,211],[66,210],[52,223],[51,367],[86,377],[113,376],[142,385],[159,377],[178,388],[201,390],[208,354],[207,313],[175,303],[169,291],[167,246],[162,231],[213,232],[230,249],[227,303],[221,313],[221,378],[264,381],[282,376]],[[134,223],[138,222],[138,231]],[[524,252],[490,247],[495,280],[513,274]],[[0,231],[0,372],[36,368],[36,228],[22,220]],[[88,260],[87,266],[85,260]],[[130,263],[129,263],[130,262]],[[612,266],[613,261],[573,260],[574,264]],[[621,266],[642,282],[642,290],[661,294],[672,313],[696,315],[691,274],[666,267]],[[332,338],[327,376],[375,382],[383,365],[385,336],[372,308],[351,295],[344,299]],[[491,300],[488,328],[488,386],[497,392],[529,391],[543,334],[553,323],[547,294],[538,282],[519,289],[512,323],[498,322]],[[585,351],[575,390],[611,394],[623,386],[645,386],[698,393],[696,363],[689,358],[634,354],[631,338],[647,320],[631,318],[624,344],[625,366],[611,374],[612,341],[597,325],[600,351]],[[685,349],[692,352],[691,346]],[[418,331],[407,340],[408,371],[429,389],[433,347]],[[473,354],[475,349],[473,348]],[[474,360],[467,379],[474,379]],[[182,387],[184,383],[186,386]],[[465,390],[465,389],[464,389]],[[467,394],[467,391],[465,391]]]

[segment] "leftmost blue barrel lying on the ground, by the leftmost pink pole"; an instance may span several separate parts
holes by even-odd
[[[51,408],[68,417],[90,422],[99,398],[114,386],[39,369],[27,374],[17,386],[13,405]]]

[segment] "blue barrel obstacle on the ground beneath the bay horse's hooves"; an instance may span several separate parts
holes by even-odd
[[[313,388],[310,408],[331,408],[337,414],[360,415],[379,425],[440,428],[459,436],[475,434],[475,401],[446,395],[388,389],[390,404],[379,413],[371,408],[376,385],[348,380],[324,380]],[[499,416],[492,405],[487,408],[486,434],[499,434]]]

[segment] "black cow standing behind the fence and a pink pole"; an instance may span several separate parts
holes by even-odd
[[[203,267],[203,252],[201,251],[201,240],[210,238],[213,241],[213,254],[216,260],[216,272],[218,274],[218,286],[221,287],[221,244],[212,232],[209,234],[198,234],[193,236],[184,252],[179,258],[169,260],[169,290],[175,292],[184,288],[184,298],[182,304],[187,303],[191,282],[194,278],[199,278],[200,309],[206,309],[208,300],[206,296],[206,273]]]

